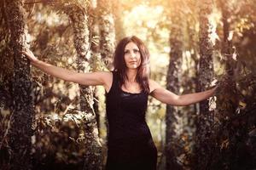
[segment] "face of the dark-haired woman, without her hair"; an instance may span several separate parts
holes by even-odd
[[[141,54],[134,42],[129,42],[125,46],[125,65],[128,69],[137,69],[141,65]]]

